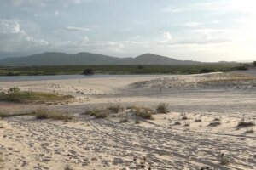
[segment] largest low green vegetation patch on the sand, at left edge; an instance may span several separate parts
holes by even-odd
[[[45,92],[21,91],[18,87],[9,88],[7,92],[0,93],[0,101],[15,103],[45,103],[68,99],[73,99],[73,96]]]

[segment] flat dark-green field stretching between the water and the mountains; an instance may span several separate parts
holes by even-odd
[[[0,76],[83,74],[85,69],[102,74],[196,74],[212,71],[230,71],[238,64],[204,65],[52,65],[0,66]]]

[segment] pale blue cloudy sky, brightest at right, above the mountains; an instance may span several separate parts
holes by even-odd
[[[255,0],[0,0],[0,59],[64,52],[256,59]]]

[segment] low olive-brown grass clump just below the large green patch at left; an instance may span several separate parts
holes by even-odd
[[[47,111],[44,109],[38,109],[37,111],[33,111],[32,115],[36,116],[37,119],[55,119],[61,121],[71,121],[73,116],[67,113],[61,113],[58,111]]]

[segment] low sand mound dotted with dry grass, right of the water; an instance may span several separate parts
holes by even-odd
[[[149,81],[134,82],[132,88],[256,88],[256,78],[233,73],[214,73],[163,77]]]

